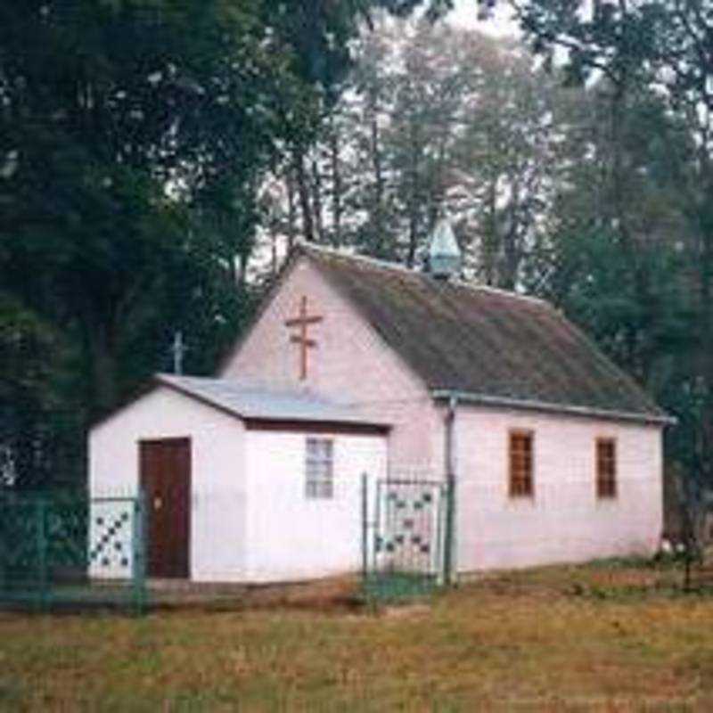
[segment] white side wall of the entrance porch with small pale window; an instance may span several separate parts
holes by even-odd
[[[287,581],[354,571],[361,565],[361,475],[386,475],[387,438],[333,438],[334,496],[307,499],[307,432],[246,432],[248,578]],[[370,496],[370,502],[373,496]]]

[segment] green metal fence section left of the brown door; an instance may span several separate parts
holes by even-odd
[[[40,611],[146,603],[143,500],[0,495],[0,605]]]

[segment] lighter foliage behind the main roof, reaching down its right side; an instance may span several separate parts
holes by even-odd
[[[530,35],[536,49],[549,32]],[[679,419],[669,464],[713,482],[705,102],[684,111],[641,63],[626,81],[618,67],[384,22],[310,152],[266,191],[266,240],[308,232],[418,266],[446,213],[465,276],[561,307]]]

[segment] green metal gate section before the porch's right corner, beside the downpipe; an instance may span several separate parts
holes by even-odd
[[[448,578],[450,488],[443,481],[362,484],[363,576],[370,599],[428,594]]]

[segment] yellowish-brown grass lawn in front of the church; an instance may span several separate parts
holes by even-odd
[[[3,710],[713,710],[713,594],[625,564],[348,608],[348,583],[242,611],[0,614]]]

